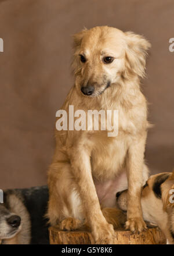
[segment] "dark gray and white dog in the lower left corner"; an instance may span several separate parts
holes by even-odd
[[[0,244],[49,244],[47,202],[47,186],[3,191]]]

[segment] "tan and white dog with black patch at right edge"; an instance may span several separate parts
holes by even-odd
[[[119,208],[126,211],[128,191],[117,193]],[[145,221],[158,225],[168,244],[174,244],[174,171],[158,173],[142,189],[141,204]]]

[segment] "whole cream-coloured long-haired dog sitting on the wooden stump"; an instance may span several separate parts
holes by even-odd
[[[70,105],[85,112],[117,109],[118,136],[108,137],[102,129],[56,130],[48,172],[51,225],[73,230],[86,219],[96,243],[113,243],[113,226],[100,205],[115,207],[115,193],[128,186],[126,227],[132,232],[146,228],[140,192],[148,177],[144,164],[148,122],[140,77],[149,47],[141,35],[107,26],[74,35],[75,84],[61,109],[67,113]]]

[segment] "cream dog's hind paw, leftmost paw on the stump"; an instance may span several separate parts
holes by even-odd
[[[81,226],[81,221],[79,219],[75,218],[66,218],[63,219],[63,221],[60,222],[60,229],[61,230],[76,230]]]

